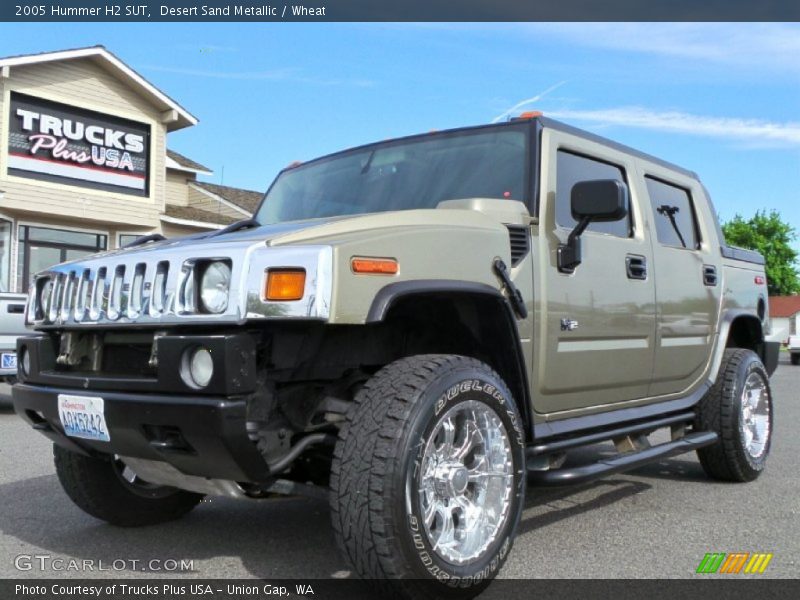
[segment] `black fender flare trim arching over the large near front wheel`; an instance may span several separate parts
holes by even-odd
[[[528,384],[528,370],[525,367],[525,355],[522,352],[522,345],[517,329],[517,319],[514,316],[514,309],[500,290],[485,283],[475,283],[472,281],[461,281],[456,279],[419,279],[414,281],[398,281],[390,283],[375,295],[369,312],[367,313],[366,323],[379,323],[386,318],[392,305],[401,298],[408,296],[423,296],[428,294],[478,294],[491,298],[503,307],[503,314],[506,326],[509,327],[514,338],[514,355],[516,356],[515,370],[518,385],[517,389],[509,384],[519,398],[517,406],[522,416],[525,437],[532,439],[533,434],[533,410],[531,405],[530,386]]]

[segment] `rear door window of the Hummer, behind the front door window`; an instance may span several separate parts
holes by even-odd
[[[699,248],[697,220],[689,192],[652,177],[645,177],[645,182],[653,205],[658,242],[677,248]]]

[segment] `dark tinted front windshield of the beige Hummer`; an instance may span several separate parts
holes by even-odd
[[[501,126],[398,140],[283,171],[256,214],[261,224],[392,210],[443,200],[525,200],[527,131]]]

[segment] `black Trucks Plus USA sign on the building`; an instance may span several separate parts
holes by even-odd
[[[9,174],[146,196],[150,127],[11,94]]]

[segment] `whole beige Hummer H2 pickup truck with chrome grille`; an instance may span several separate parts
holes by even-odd
[[[39,274],[17,349],[17,411],[110,523],[327,496],[358,575],[469,597],[527,483],[764,469],[763,259],[651,156],[536,115],[288,168],[252,220],[159,238]]]

